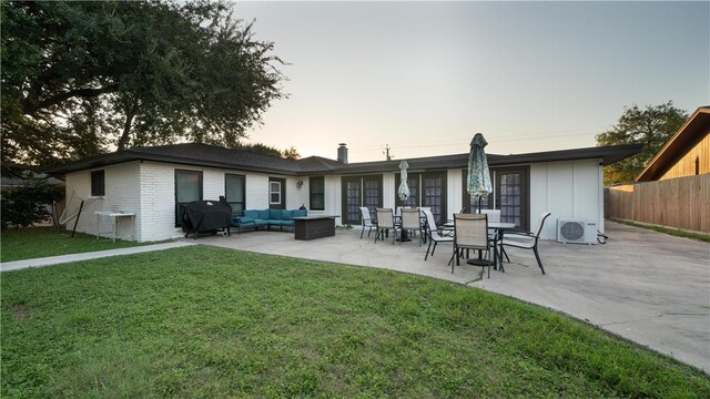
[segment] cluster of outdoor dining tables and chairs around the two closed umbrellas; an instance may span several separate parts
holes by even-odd
[[[367,207],[359,209],[363,217],[361,239],[365,229],[368,229],[368,237],[373,229],[376,231],[375,243],[384,241],[392,231],[392,244],[395,241],[399,244],[410,241],[408,235],[416,236],[418,233],[419,245],[428,243],[425,260],[434,255],[438,244],[452,243],[452,273],[463,257],[468,258],[469,265],[488,267],[488,278],[491,267],[505,273],[504,257],[510,262],[505,250],[508,246],[531,249],[540,270],[545,274],[537,244],[542,226],[550,216],[549,212],[540,215],[535,232],[528,232],[516,228],[514,223],[501,223],[499,209],[481,209],[478,214],[467,214],[462,209],[460,213],[454,214],[453,221],[447,221],[440,226],[437,226],[434,214],[426,207],[398,208],[397,214],[392,208],[376,208],[376,219],[372,218]],[[478,256],[470,258],[470,250],[477,252]]]

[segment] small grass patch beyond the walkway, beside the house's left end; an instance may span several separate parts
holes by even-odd
[[[92,250],[125,248],[136,245],[154,243],[131,243],[116,239],[77,233],[72,238],[71,232],[54,228],[3,229],[0,244],[0,262],[32,259],[45,256],[79,254]]]

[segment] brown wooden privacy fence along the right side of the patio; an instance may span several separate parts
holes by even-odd
[[[710,174],[609,187],[607,216],[710,233]]]

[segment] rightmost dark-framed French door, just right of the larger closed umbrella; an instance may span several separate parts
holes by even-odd
[[[516,227],[529,229],[529,168],[496,170],[495,180],[495,201],[496,208],[500,209],[500,222],[515,223]]]

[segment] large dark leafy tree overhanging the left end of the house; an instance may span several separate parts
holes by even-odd
[[[2,162],[133,145],[239,147],[285,79],[226,2],[1,3]]]

